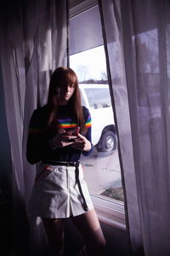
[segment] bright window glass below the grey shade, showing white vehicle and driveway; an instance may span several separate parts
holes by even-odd
[[[82,22],[81,15],[76,17],[77,22],[72,20],[70,33],[74,32],[77,42],[82,42],[77,33],[77,24]],[[91,29],[86,21],[83,22],[83,26],[87,26],[87,30]],[[82,47],[81,49],[81,44],[79,44],[74,49],[74,54],[70,56],[70,66],[77,73],[79,80],[82,105],[89,109],[92,116],[94,152],[88,157],[82,156],[84,177],[91,194],[123,201],[122,177],[106,72],[105,50],[103,45],[94,47],[91,44],[89,48],[84,50]]]

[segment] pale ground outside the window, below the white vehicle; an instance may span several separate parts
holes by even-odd
[[[118,195],[118,200],[123,201],[122,177],[117,149],[113,154],[98,153],[94,148],[93,154],[82,156],[84,179],[88,189],[93,195]],[[117,191],[117,192],[116,192]],[[114,194],[113,194],[114,193]]]

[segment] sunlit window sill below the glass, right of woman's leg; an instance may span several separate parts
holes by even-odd
[[[99,221],[126,230],[124,204],[105,196],[91,195]]]

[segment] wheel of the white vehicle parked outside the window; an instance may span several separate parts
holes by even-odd
[[[99,141],[99,151],[111,152],[116,149],[116,134],[113,131],[105,131]]]

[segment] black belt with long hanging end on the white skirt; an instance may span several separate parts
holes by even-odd
[[[82,196],[82,205],[84,207],[84,210],[88,211],[88,205],[87,205],[85,197],[82,193],[82,186],[81,186],[80,179],[79,179],[78,166],[80,165],[80,162],[79,161],[77,161],[77,162],[60,162],[60,161],[54,161],[54,160],[43,160],[42,162],[44,164],[48,164],[48,165],[52,165],[52,166],[75,166],[76,167],[76,182],[78,185],[80,195]]]

